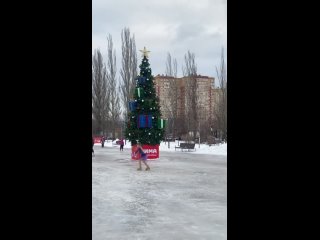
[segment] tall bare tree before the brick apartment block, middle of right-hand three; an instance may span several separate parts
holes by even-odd
[[[198,102],[198,84],[197,84],[197,65],[195,63],[195,55],[188,51],[184,57],[185,66],[182,68],[183,75],[186,77],[186,100],[185,100],[185,112],[187,122],[187,130],[193,132],[193,137],[196,136],[198,128],[198,114],[199,114],[199,102]]]

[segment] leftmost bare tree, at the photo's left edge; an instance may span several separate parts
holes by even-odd
[[[94,51],[92,59],[92,115],[98,134],[105,134],[109,111],[106,66],[99,49]]]

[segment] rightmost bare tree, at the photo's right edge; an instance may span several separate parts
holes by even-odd
[[[221,62],[216,67],[219,89],[216,91],[214,104],[214,129],[218,131],[218,137],[227,140],[227,66],[224,61],[224,49],[221,51]]]

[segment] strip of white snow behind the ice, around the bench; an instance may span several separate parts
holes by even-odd
[[[118,140],[118,139],[117,139]],[[116,145],[115,142],[117,141],[111,141],[111,140],[108,140],[105,142],[104,146],[105,147],[118,147],[119,148],[119,145]],[[175,141],[175,142],[170,142],[170,148],[168,147],[168,142],[161,142],[160,143],[160,147],[159,147],[159,150],[160,150],[160,154],[162,151],[166,151],[166,152],[178,152],[178,151],[181,151],[181,149],[175,149],[175,146],[179,146],[179,144],[181,142],[184,142],[184,141]],[[95,144],[96,146],[101,146],[100,143],[96,143]],[[191,154],[212,154],[212,155],[224,155],[224,156],[227,156],[227,144],[226,143],[223,143],[223,144],[219,144],[219,145],[207,145],[207,144],[200,144],[200,148],[199,148],[199,144],[196,143],[195,145],[196,147],[196,151],[192,151],[190,150],[189,153]],[[131,148],[131,142],[130,141],[126,141],[126,145],[124,145],[124,148]],[[183,150],[183,151],[187,151],[187,150]]]

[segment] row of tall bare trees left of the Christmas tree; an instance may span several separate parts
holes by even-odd
[[[110,34],[107,36],[106,63],[99,49],[93,54],[92,132],[95,135],[115,137],[116,129],[123,129],[128,113],[127,103],[132,96],[134,79],[137,76],[137,54],[135,39],[130,35],[129,28],[122,30],[121,40],[120,77],[117,77],[116,51]]]

